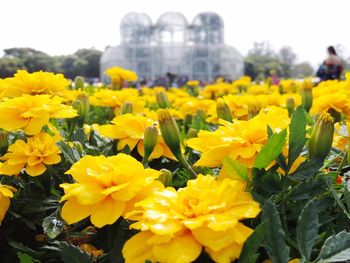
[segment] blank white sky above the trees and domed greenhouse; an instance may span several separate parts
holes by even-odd
[[[145,12],[153,22],[166,11],[189,22],[203,11],[217,12],[225,41],[243,55],[254,41],[275,49],[287,45],[298,61],[314,66],[326,47],[342,44],[350,56],[350,0],[0,0],[0,55],[10,47],[31,47],[50,55],[119,44],[119,24],[128,12]]]

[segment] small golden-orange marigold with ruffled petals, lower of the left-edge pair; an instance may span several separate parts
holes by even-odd
[[[0,167],[0,173],[17,175],[25,167],[26,173],[30,176],[41,175],[46,171],[46,165],[61,161],[60,153],[54,138],[47,133],[42,132],[29,137],[27,142],[17,140],[0,158],[5,161]]]

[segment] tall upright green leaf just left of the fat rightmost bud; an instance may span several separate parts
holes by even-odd
[[[306,112],[303,107],[298,107],[289,125],[289,149],[288,149],[288,169],[299,157],[306,142]]]

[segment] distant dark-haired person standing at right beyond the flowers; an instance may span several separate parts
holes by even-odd
[[[337,55],[333,46],[327,48],[328,58],[323,62],[317,71],[317,77],[321,81],[339,79],[344,70],[343,61]]]

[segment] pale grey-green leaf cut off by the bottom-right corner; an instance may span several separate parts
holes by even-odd
[[[323,244],[318,256],[321,262],[345,262],[350,260],[350,233],[342,231],[330,236]]]

